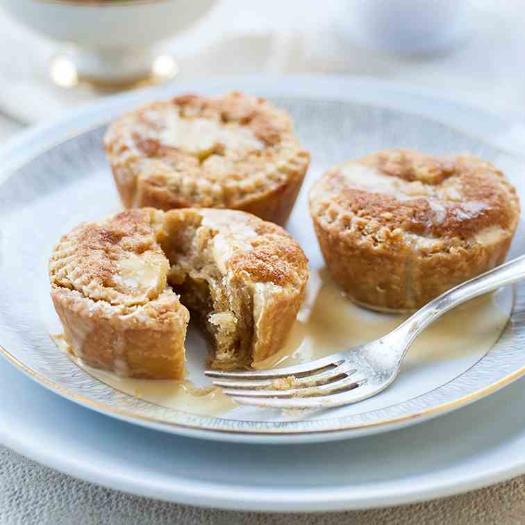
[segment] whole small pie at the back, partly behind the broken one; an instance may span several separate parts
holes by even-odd
[[[114,122],[104,144],[126,208],[231,208],[277,224],[310,162],[288,113],[235,92],[149,103]]]

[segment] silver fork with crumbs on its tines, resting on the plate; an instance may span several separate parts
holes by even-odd
[[[521,256],[444,292],[383,338],[359,347],[292,367],[205,374],[217,378],[213,384],[224,394],[247,405],[317,409],[363,401],[394,381],[410,344],[429,324],[469,299],[524,279]]]

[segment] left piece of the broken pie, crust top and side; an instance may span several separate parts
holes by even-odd
[[[81,224],[56,245],[51,298],[86,364],[119,376],[183,377],[190,314],[167,287],[162,226],[162,212],[136,210]]]

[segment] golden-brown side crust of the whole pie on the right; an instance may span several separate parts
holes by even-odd
[[[514,230],[499,242],[426,254],[408,249],[392,256],[372,242],[353,242],[313,217],[326,267],[354,302],[372,310],[411,312],[463,281],[503,263]],[[383,253],[381,253],[383,251]]]

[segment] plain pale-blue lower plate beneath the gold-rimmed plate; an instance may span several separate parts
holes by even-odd
[[[233,510],[322,511],[444,497],[525,472],[525,381],[449,415],[333,443],[228,444],[119,422],[0,360],[0,442],[124,492]]]

